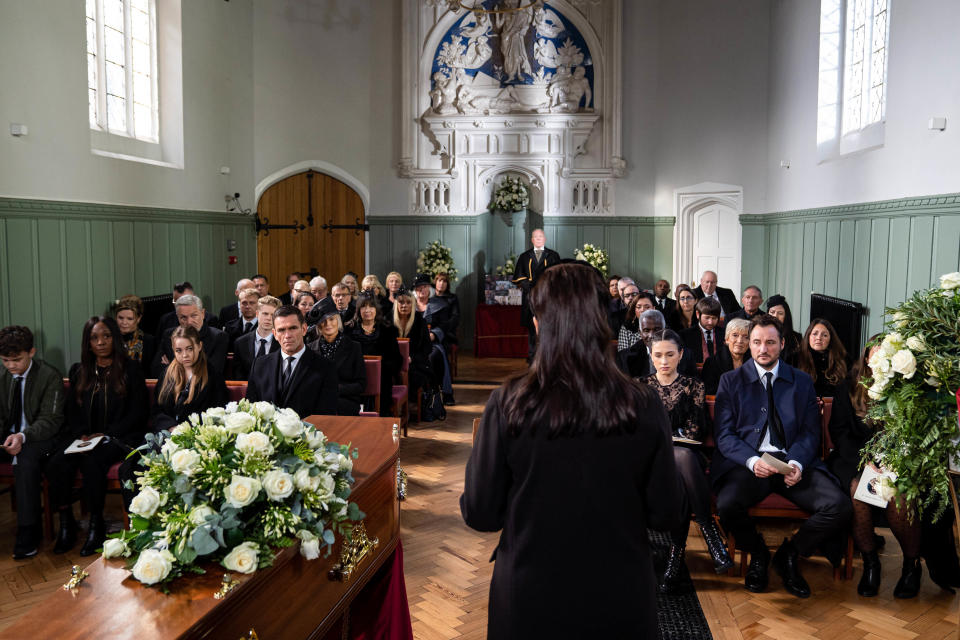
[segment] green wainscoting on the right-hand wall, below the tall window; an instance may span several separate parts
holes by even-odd
[[[960,194],[742,215],[740,223],[743,282],[785,295],[798,331],[811,292],[863,304],[866,338],[882,329],[885,307],[960,269]]]

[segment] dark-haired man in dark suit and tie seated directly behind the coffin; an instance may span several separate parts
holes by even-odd
[[[300,417],[337,415],[337,369],[303,342],[307,323],[296,307],[273,314],[273,337],[280,350],[257,358],[247,381],[247,400],[289,407]]]

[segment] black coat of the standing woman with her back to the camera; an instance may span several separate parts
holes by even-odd
[[[460,497],[468,526],[501,531],[488,637],[658,637],[646,531],[681,517],[663,406],[651,393],[633,433],[551,438],[531,425],[509,435],[503,401],[498,389],[487,402]],[[570,526],[582,552],[558,534]],[[602,588],[584,588],[585,576]]]

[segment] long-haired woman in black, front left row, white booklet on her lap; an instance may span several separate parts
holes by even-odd
[[[80,555],[103,546],[106,526],[103,506],[107,472],[143,440],[147,424],[147,386],[140,367],[127,359],[120,327],[113,318],[93,317],[83,327],[80,362],[70,369],[65,434],[47,464],[51,500],[60,511],[60,533],[54,553],[73,548],[77,524],[71,493],[77,471],[83,476],[83,495],[90,510],[90,528]],[[65,454],[77,439],[104,436],[93,449]]]

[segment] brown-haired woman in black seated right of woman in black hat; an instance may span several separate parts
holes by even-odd
[[[350,339],[360,345],[365,356],[380,356],[380,415],[390,416],[393,385],[400,378],[403,359],[397,345],[396,327],[388,324],[380,310],[378,296],[362,291],[357,296],[357,315],[347,330]]]

